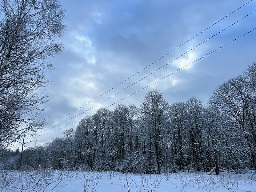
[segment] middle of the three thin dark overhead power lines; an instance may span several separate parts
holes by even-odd
[[[129,85],[128,87],[126,87],[126,88],[122,89],[121,91],[117,92],[116,94],[114,94],[114,95],[112,95],[112,96],[108,97],[107,99],[105,99],[105,100],[101,101],[100,103],[98,103],[98,104],[94,105],[93,107],[91,107],[91,108],[89,108],[89,109],[87,109],[87,110],[83,111],[82,113],[79,113],[78,115],[73,116],[72,118],[70,118],[70,119],[68,119],[68,120],[66,120],[66,121],[64,121],[64,122],[62,122],[62,123],[60,123],[60,124],[57,124],[57,125],[55,125],[55,126],[53,126],[53,127],[49,128],[49,129],[47,129],[47,130],[45,130],[45,131],[43,131],[43,132],[49,131],[49,130],[51,130],[51,129],[53,129],[53,128],[55,128],[55,127],[57,127],[57,126],[61,125],[61,124],[64,124],[64,123],[68,122],[69,120],[74,119],[75,117],[77,117],[77,116],[79,116],[79,115],[82,115],[82,114],[83,114],[83,113],[85,113],[86,111],[88,111],[88,110],[90,110],[90,109],[92,109],[92,108],[94,108],[94,107],[96,107],[96,106],[100,105],[101,103],[105,102],[106,100],[108,100],[108,99],[110,99],[110,98],[112,98],[112,97],[116,96],[116,95],[117,95],[117,94],[119,94],[120,92],[123,92],[124,90],[128,89],[129,87],[133,86],[134,84],[136,84],[136,83],[140,82],[141,80],[145,79],[146,77],[148,77],[148,76],[152,75],[152,74],[153,74],[153,73],[155,73],[156,71],[158,71],[158,70],[160,70],[161,68],[165,67],[166,65],[170,64],[170,63],[171,63],[171,62],[173,62],[174,60],[177,60],[177,59],[178,59],[178,58],[180,58],[181,56],[183,56],[183,55],[185,55],[186,53],[190,52],[191,50],[195,49],[195,48],[196,48],[196,47],[198,47],[199,45],[201,45],[201,44],[205,43],[206,41],[208,41],[208,40],[209,40],[209,39],[211,39],[212,37],[214,37],[214,36],[216,36],[216,35],[220,34],[222,31],[224,31],[224,30],[226,30],[227,28],[229,28],[229,27],[233,26],[234,24],[236,24],[237,22],[239,22],[239,21],[243,20],[244,18],[246,18],[247,16],[251,15],[251,14],[252,14],[252,13],[254,13],[254,12],[256,12],[256,10],[255,10],[255,11],[253,11],[253,12],[251,12],[251,13],[249,13],[249,14],[247,14],[247,15],[246,15],[246,16],[244,16],[243,18],[241,18],[241,19],[237,20],[237,21],[236,21],[236,22],[234,22],[233,24],[231,24],[231,25],[229,25],[228,27],[226,27],[226,28],[222,29],[221,31],[219,31],[219,32],[218,32],[218,33],[216,33],[215,35],[213,35],[213,36],[209,37],[208,39],[204,40],[203,42],[201,42],[200,44],[196,45],[196,46],[195,46],[195,47],[193,47],[192,49],[190,49],[190,50],[188,50],[187,52],[185,52],[185,53],[181,54],[179,57],[176,57],[176,58],[175,58],[175,59],[173,59],[172,61],[170,61],[170,62],[166,63],[165,65],[163,65],[162,67],[160,67],[160,68],[156,69],[155,71],[153,71],[153,72],[149,73],[147,76],[144,76],[144,77],[143,77],[143,78],[141,78],[140,80],[138,80],[138,81],[136,81],[135,83],[133,83],[133,84]],[[41,132],[41,133],[43,133],[43,132]]]

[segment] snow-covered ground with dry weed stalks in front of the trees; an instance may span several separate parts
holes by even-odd
[[[256,191],[256,174],[220,175],[168,173],[161,175],[78,171],[0,171],[1,191],[56,192],[171,192],[171,191]]]

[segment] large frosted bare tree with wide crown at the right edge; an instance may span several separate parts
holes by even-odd
[[[229,79],[212,94],[210,104],[225,117],[225,138],[220,138],[241,163],[256,168],[255,96],[244,76]],[[229,141],[229,142],[228,142]]]

